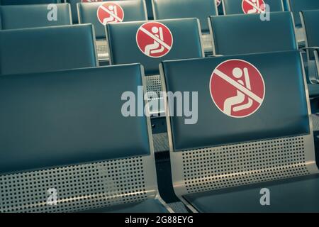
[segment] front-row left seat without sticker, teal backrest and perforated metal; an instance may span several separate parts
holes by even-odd
[[[142,74],[135,64],[0,77],[0,212],[167,212],[150,119],[121,114]]]

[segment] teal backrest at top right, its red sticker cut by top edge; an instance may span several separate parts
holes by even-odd
[[[263,4],[259,5],[259,7],[253,7],[247,3],[247,1],[252,3],[252,0],[223,0],[224,14],[250,14],[264,11]],[[284,11],[284,3],[282,0],[259,0],[259,3],[268,4],[270,12]]]

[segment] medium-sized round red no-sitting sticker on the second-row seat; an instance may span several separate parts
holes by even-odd
[[[136,43],[148,57],[163,57],[172,49],[173,35],[164,24],[147,22],[138,28]]]

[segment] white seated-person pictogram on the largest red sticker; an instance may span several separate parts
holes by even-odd
[[[237,82],[242,84],[242,86],[245,86],[249,90],[251,89],[250,75],[249,75],[247,68],[244,68],[244,70],[242,70],[242,69],[236,67],[235,69],[233,69],[233,76],[236,79],[238,79]],[[242,81],[242,79],[241,79],[242,77],[244,77],[245,82]],[[232,111],[237,112],[237,111],[242,111],[244,109],[249,109],[252,106],[253,101],[248,96],[247,103],[244,103],[245,98],[246,98],[246,95],[244,93],[242,93],[239,89],[237,89],[237,95],[226,99],[224,102],[225,114],[231,115]],[[242,104],[242,105],[236,106],[238,104]],[[233,107],[233,106],[235,106],[235,107]]]

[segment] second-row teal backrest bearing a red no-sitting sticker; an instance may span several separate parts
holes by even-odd
[[[155,41],[142,30],[146,28],[151,31],[154,26],[163,29],[164,45],[168,44],[165,48],[162,46],[163,52],[159,55],[150,57],[145,54],[145,50],[147,45],[152,47]],[[106,26],[106,30],[111,64],[140,62],[147,75],[159,74],[158,65],[162,60],[203,57],[200,25],[196,18],[111,23]]]

